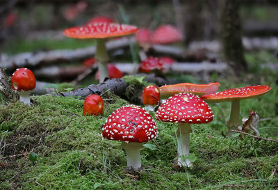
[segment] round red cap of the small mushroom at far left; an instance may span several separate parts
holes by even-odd
[[[33,90],[35,88],[35,75],[27,68],[19,68],[13,73],[11,80],[13,90]]]

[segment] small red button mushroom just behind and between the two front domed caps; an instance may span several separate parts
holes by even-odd
[[[160,100],[158,87],[154,85],[146,86],[142,93],[142,100],[145,105],[145,109],[154,111],[154,107]]]

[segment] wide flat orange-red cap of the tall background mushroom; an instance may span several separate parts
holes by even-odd
[[[112,38],[136,33],[136,26],[117,23],[93,23],[65,29],[64,35],[70,38]]]

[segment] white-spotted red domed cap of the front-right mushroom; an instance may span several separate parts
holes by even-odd
[[[161,104],[156,118],[163,122],[206,123],[213,120],[213,111],[197,95],[179,93]]]

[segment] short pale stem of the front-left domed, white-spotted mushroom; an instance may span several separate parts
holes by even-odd
[[[127,167],[138,169],[141,167],[140,151],[143,148],[142,143],[125,143],[121,145],[126,150]]]

